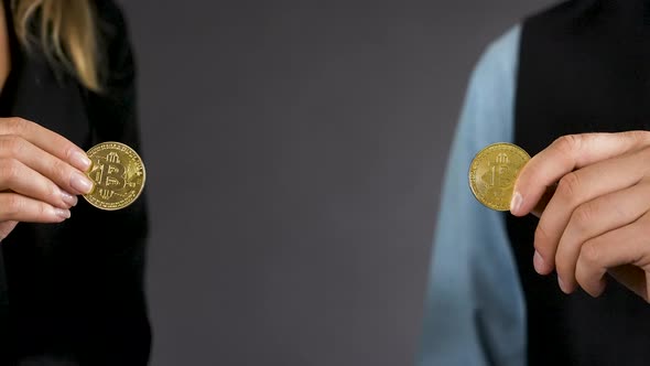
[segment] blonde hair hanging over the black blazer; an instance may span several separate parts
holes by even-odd
[[[36,41],[51,62],[63,65],[86,88],[101,89],[89,0],[12,0],[11,7],[15,34],[25,49]],[[40,34],[33,34],[34,20]]]

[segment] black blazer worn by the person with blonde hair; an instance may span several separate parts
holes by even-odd
[[[10,1],[3,1],[10,9]],[[94,3],[106,93],[88,92],[72,75],[53,68],[42,53],[21,50],[10,23],[12,71],[0,112],[37,122],[84,150],[120,141],[142,154],[136,67],[124,19],[112,1]],[[145,201],[147,190],[131,206],[105,212],[80,198],[64,223],[20,223],[3,240],[0,365],[148,363]]]

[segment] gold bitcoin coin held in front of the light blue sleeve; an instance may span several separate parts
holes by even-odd
[[[514,181],[529,160],[530,155],[516,144],[498,142],[487,146],[469,165],[472,193],[491,209],[510,209]]]

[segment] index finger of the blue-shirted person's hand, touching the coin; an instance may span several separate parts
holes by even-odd
[[[650,144],[650,132],[626,131],[566,134],[534,155],[521,170],[510,212],[530,213],[548,187],[572,171]]]

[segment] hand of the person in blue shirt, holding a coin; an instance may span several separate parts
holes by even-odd
[[[548,187],[557,187],[545,208]],[[650,300],[650,132],[565,136],[521,171],[511,213],[542,211],[533,265],[566,293],[599,295],[609,272]]]

